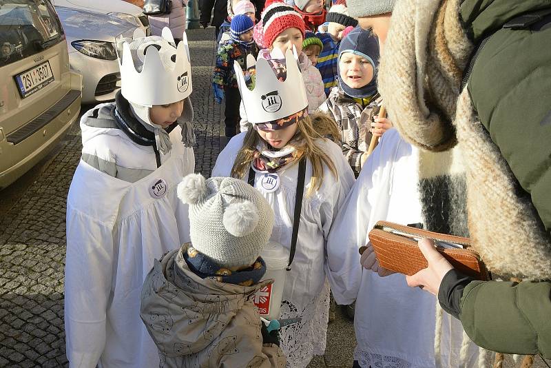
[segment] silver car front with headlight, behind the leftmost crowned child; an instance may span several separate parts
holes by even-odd
[[[83,76],[82,102],[112,101],[121,89],[115,45],[132,37],[136,26],[112,15],[56,6],[67,46],[71,69]]]

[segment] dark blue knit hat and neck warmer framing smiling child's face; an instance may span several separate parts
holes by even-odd
[[[351,97],[364,98],[377,92],[377,70],[379,69],[379,42],[373,33],[362,30],[360,25],[351,30],[346,37],[340,41],[339,60],[344,52],[360,55],[366,58],[373,65],[373,81],[362,88],[350,88],[340,78],[339,64],[337,63],[337,78],[344,93]]]

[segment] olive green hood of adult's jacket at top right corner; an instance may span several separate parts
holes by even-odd
[[[550,0],[464,0],[459,16],[468,37],[476,44],[510,19],[550,8]]]

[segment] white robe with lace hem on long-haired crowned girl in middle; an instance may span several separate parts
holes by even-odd
[[[244,138],[245,133],[241,133],[229,141],[216,160],[212,176],[230,176],[233,161]],[[325,242],[337,209],[344,202],[354,182],[354,174],[340,147],[326,140],[317,141],[316,144],[333,161],[339,180],[335,181],[333,174],[324,167],[320,190],[307,196],[312,176],[311,163],[307,161],[298,241],[291,271],[287,272],[285,278],[281,309],[281,318],[302,317],[300,323],[280,331],[287,367],[293,368],[306,367],[314,354],[322,355],[325,351],[329,311],[329,285],[324,274]],[[281,178],[279,190],[273,193],[261,192],[275,214],[270,240],[289,249],[293,232],[298,165],[284,167],[278,174]],[[262,174],[256,174],[257,188],[260,187],[261,177]]]

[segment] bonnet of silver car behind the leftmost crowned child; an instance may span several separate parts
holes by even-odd
[[[56,13],[67,34],[72,39],[94,39],[115,42],[117,37],[132,37],[136,25],[116,17],[87,10],[56,6]],[[91,35],[93,35],[91,37]]]

